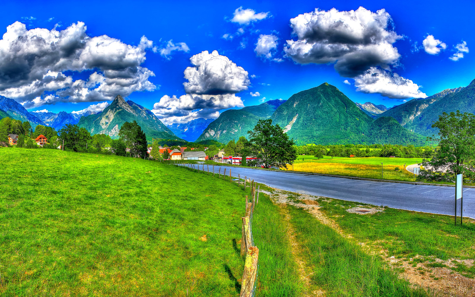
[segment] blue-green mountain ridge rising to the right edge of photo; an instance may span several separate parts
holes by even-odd
[[[466,87],[446,89],[427,98],[412,99],[404,104],[395,106],[380,116],[395,118],[404,128],[432,136],[437,134],[437,128],[432,128],[432,122],[438,120],[443,112],[469,112],[475,114],[475,79]]]

